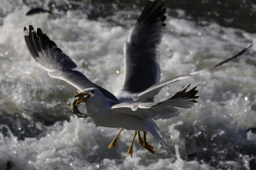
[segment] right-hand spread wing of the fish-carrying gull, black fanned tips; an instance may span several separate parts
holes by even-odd
[[[111,111],[112,113],[128,114],[144,119],[170,119],[181,113],[176,107],[189,109],[197,102],[195,99],[199,98],[196,96],[198,91],[194,87],[187,92],[189,86],[190,84],[164,102],[124,102],[112,106]]]

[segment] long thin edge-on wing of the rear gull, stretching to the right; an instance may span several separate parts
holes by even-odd
[[[168,85],[168,84],[171,84],[173,82],[176,82],[176,81],[179,81],[179,80],[184,80],[184,79],[187,79],[187,78],[190,78],[192,76],[194,76],[195,74],[199,74],[201,72],[205,72],[205,71],[208,71],[208,70],[212,70],[213,68],[216,68],[218,66],[221,66],[222,64],[224,63],[227,63],[228,61],[230,60],[233,60],[233,59],[236,59],[237,57],[239,57],[240,55],[242,55],[244,52],[246,52],[248,50],[248,48],[252,45],[252,42],[249,43],[242,51],[238,52],[236,55],[226,59],[226,60],[223,60],[221,61],[220,63],[218,64],[215,64],[214,66],[211,66],[211,67],[208,67],[208,68],[203,68],[203,69],[200,69],[200,70],[196,70],[196,71],[193,71],[193,72],[189,72],[187,74],[182,74],[180,76],[176,76],[174,78],[170,78],[169,80],[165,80],[163,82],[160,82],[158,84],[154,84],[153,86],[151,86],[150,88],[144,90],[143,92],[138,92],[136,94],[133,94],[132,95],[132,98],[134,101],[137,101],[137,100],[142,100],[144,98],[149,98],[150,96],[154,96],[156,95],[164,86]]]

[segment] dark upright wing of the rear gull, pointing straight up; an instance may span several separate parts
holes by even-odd
[[[142,92],[160,80],[158,45],[165,27],[163,0],[148,1],[124,44],[125,78],[122,89]]]

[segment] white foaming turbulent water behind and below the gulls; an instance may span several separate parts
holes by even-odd
[[[88,118],[72,115],[66,103],[76,89],[50,78],[34,61],[24,42],[23,27],[41,27],[78,64],[78,70],[114,92],[124,77],[123,44],[146,1],[49,2],[0,0],[1,170],[256,169],[255,28],[190,20],[186,11],[168,8],[160,44],[161,80],[211,66],[250,41],[254,44],[213,72],[164,88],[156,101],[192,83],[198,86],[198,104],[179,117],[156,122],[167,135],[164,140],[170,150],[149,135],[156,153],[136,141],[130,158],[125,154],[133,132],[124,131],[118,149],[108,150],[118,129],[99,127]],[[50,6],[53,14],[25,15],[38,6]],[[255,4],[252,8],[255,10]]]

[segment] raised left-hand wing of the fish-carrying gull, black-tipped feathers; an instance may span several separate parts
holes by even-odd
[[[80,91],[91,87],[98,88],[107,99],[118,101],[112,93],[91,82],[81,72],[73,70],[77,67],[76,63],[63,53],[40,28],[35,31],[32,25],[29,25],[29,30],[24,27],[24,38],[30,54],[48,71],[49,76],[64,80]]]

